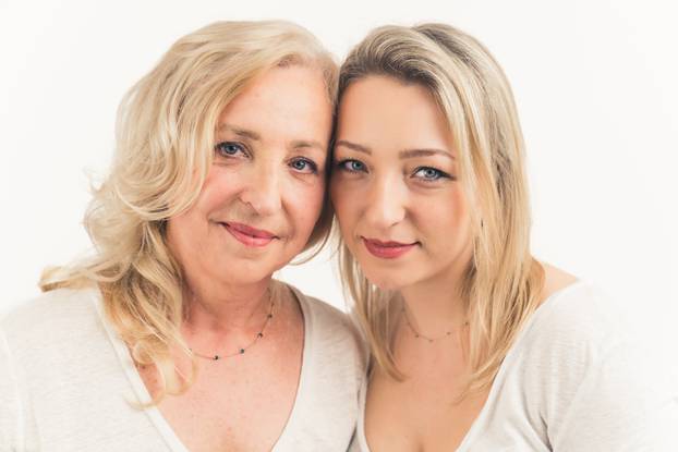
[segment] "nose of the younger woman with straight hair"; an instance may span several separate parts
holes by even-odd
[[[376,181],[364,201],[367,203],[365,220],[375,229],[387,230],[405,217],[407,193],[398,181],[389,179]]]

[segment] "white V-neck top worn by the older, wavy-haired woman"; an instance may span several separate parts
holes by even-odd
[[[358,417],[364,374],[348,317],[294,293],[304,349],[294,406],[274,447],[341,451]],[[187,452],[102,314],[98,290],[57,290],[0,321],[0,451]]]

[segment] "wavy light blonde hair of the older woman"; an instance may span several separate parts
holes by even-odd
[[[334,105],[337,63],[301,26],[217,22],[179,39],[120,105],[112,167],[85,215],[95,255],[47,269],[39,282],[43,291],[98,285],[133,359],[158,370],[154,402],[193,378],[179,374],[170,352],[179,346],[192,356],[179,332],[184,281],[166,242],[167,220],[196,200],[226,106],[265,71],[287,65],[322,71]],[[331,218],[326,199],[304,251],[322,247]]]

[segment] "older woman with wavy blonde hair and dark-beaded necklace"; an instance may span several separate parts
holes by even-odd
[[[354,331],[271,279],[329,230],[336,76],[299,26],[216,23],[132,88],[96,255],[0,323],[0,450],[347,449]]]

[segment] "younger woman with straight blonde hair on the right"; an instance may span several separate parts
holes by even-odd
[[[519,121],[477,40],[368,35],[341,68],[334,152],[373,355],[352,450],[678,450],[675,382],[598,290],[530,253]]]

